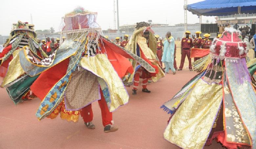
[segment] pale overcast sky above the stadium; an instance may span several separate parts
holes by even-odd
[[[188,0],[188,4],[203,0]],[[184,22],[183,0],[119,0],[119,24],[133,24],[152,20],[170,25]],[[61,17],[81,6],[97,12],[97,22],[103,30],[114,27],[113,0],[1,0],[0,35],[9,35],[12,23],[18,20],[35,25],[35,30],[54,27],[58,31]],[[215,22],[214,17],[202,17],[202,22]],[[199,18],[188,12],[188,23],[198,23]]]

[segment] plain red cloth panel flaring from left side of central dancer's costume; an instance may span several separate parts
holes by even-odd
[[[68,64],[69,58],[42,72],[31,85],[32,92],[43,100],[51,88],[66,74]]]

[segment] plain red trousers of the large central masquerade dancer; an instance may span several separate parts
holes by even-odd
[[[112,112],[109,112],[107,103],[105,101],[105,98],[103,96],[102,90],[100,89],[100,96],[101,99],[98,100],[99,107],[101,110],[101,117],[102,117],[102,124],[105,127],[106,125],[111,124],[112,121]],[[91,122],[93,120],[93,110],[92,110],[92,104],[84,107],[81,110],[81,116],[85,123]]]

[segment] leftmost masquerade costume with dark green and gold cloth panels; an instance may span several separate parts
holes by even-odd
[[[38,75],[30,77],[22,69],[21,63],[23,63],[23,60],[20,60],[19,55],[22,48],[27,47],[29,49],[27,54],[30,63],[34,62],[40,65],[39,61],[49,59],[46,53],[39,47],[33,27],[34,25],[27,22],[18,21],[18,23],[13,23],[13,29],[6,47],[0,53],[0,70],[6,70],[6,73],[2,73],[4,79],[1,87],[7,88],[8,94],[15,104],[23,99],[34,97],[30,91],[30,85],[38,77]],[[54,55],[52,58],[54,59]]]

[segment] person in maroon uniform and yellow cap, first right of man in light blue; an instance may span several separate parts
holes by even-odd
[[[181,64],[178,70],[182,70],[184,66],[185,57],[187,56],[189,62],[189,70],[192,71],[190,49],[193,47],[192,38],[189,37],[190,31],[185,32],[186,37],[181,40]]]

